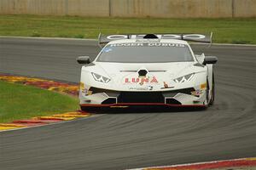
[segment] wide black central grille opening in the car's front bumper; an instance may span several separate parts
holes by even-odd
[[[160,92],[121,92],[118,103],[165,103]]]

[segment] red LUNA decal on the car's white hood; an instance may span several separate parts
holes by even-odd
[[[125,77],[125,84],[157,84],[156,77]]]

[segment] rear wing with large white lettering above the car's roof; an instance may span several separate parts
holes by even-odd
[[[205,42],[212,43],[212,32],[210,35],[195,33],[166,33],[166,34],[118,34],[118,35],[102,35],[99,34],[98,43],[102,47],[108,42],[122,39],[177,39],[188,42]]]

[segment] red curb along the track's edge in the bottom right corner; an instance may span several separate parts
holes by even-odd
[[[234,170],[236,168],[256,169],[256,157],[224,161],[205,161],[161,167],[141,167],[127,170],[213,170],[218,168],[232,168]]]

